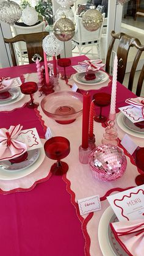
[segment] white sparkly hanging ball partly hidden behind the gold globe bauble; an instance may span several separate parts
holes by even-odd
[[[60,7],[59,9],[57,9],[55,15],[54,15],[54,20],[59,20],[62,15],[65,15],[68,19],[70,19],[71,21],[74,21],[74,14],[73,11],[71,10],[71,8],[68,7]]]

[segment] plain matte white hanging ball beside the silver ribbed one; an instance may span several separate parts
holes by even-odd
[[[21,20],[28,26],[32,26],[38,21],[38,13],[33,7],[27,6],[21,15]]]

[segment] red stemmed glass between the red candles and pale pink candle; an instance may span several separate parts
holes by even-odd
[[[106,122],[107,117],[102,115],[102,108],[110,104],[110,99],[111,99],[111,95],[105,92],[99,92],[93,95],[94,104],[100,107],[99,115],[96,115],[94,117],[95,122],[98,122],[98,123]]]

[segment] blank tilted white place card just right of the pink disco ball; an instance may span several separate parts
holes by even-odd
[[[135,149],[138,147],[134,141],[132,141],[131,137],[128,134],[125,134],[123,139],[121,140],[121,145],[126,148],[130,155],[135,152]]]

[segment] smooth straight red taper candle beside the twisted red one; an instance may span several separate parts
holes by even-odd
[[[90,93],[83,94],[83,112],[82,112],[82,148],[88,148],[88,128],[90,117]]]

